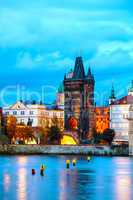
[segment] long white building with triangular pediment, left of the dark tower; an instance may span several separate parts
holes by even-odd
[[[18,124],[32,127],[51,127],[52,120],[57,118],[59,127],[64,129],[64,111],[59,109],[47,109],[45,105],[25,104],[21,101],[13,106],[3,108],[4,116],[15,116]]]

